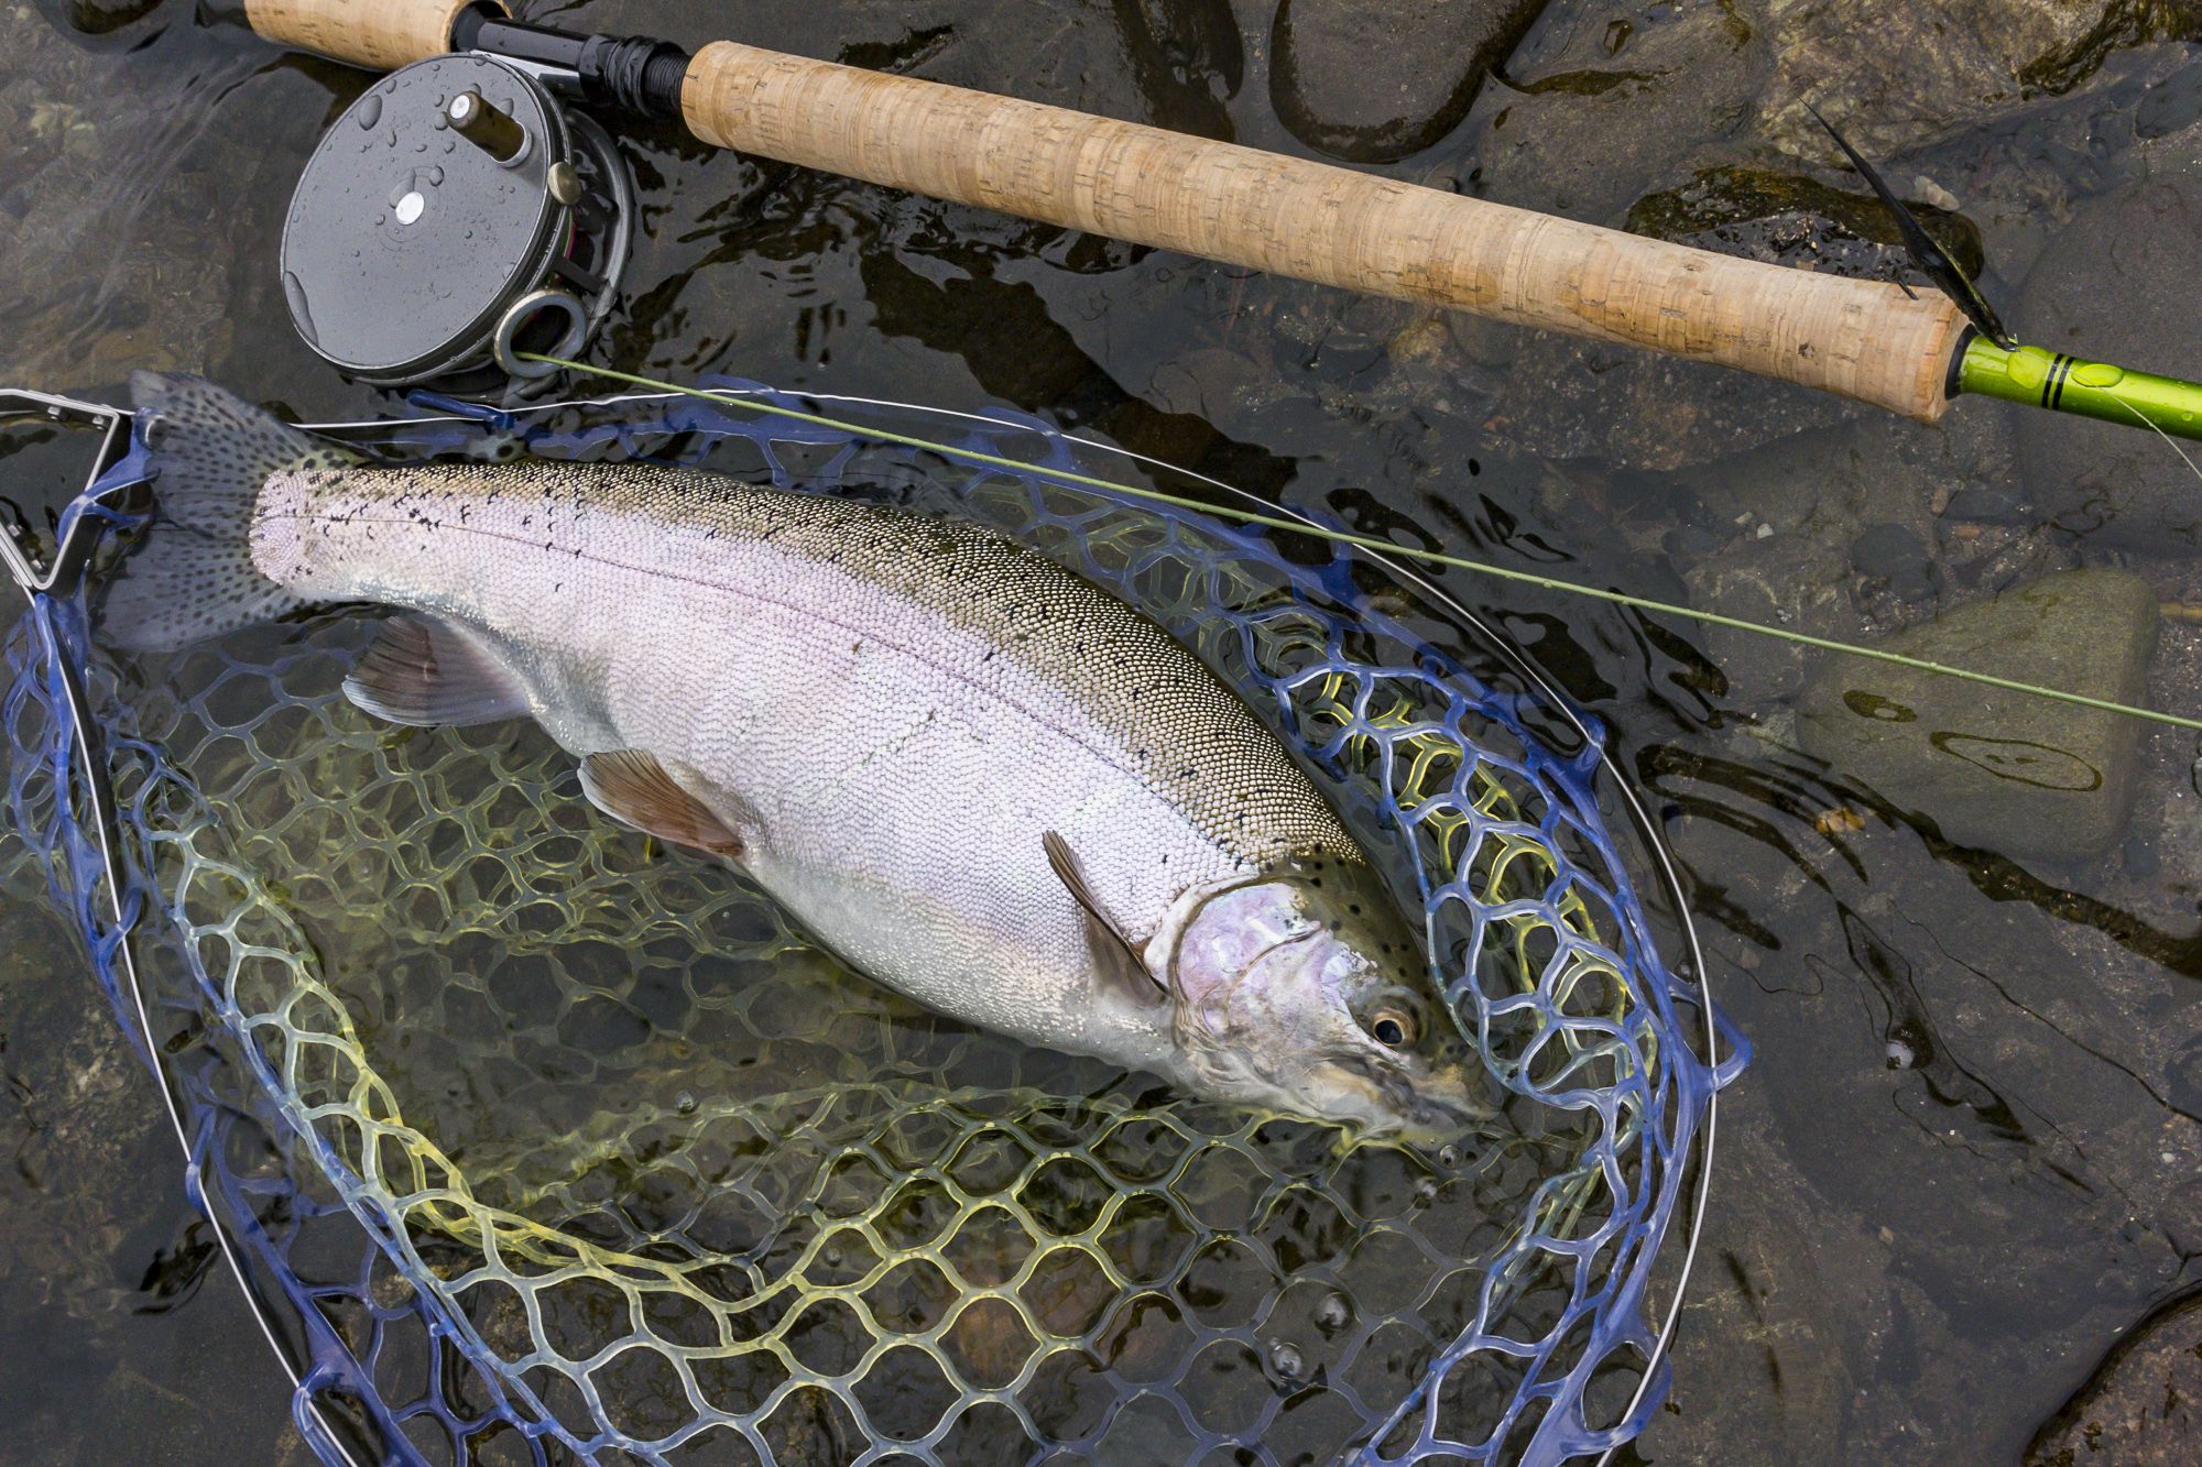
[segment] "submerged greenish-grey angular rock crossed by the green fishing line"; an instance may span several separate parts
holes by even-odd
[[[2147,687],[2156,628],[2156,593],[2140,577],[2068,570],[1881,648],[2132,703]],[[1799,734],[1839,778],[1958,844],[2015,857],[2096,857],[2134,802],[2136,720],[1933,672],[1836,656],[1803,692]]]

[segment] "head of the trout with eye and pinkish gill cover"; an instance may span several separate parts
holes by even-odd
[[[1422,943],[1365,861],[1297,857],[1176,916],[1163,976],[1207,1093],[1431,1143],[1491,1115]]]

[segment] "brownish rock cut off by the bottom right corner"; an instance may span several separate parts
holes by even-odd
[[[2202,1297],[2127,1335],[2026,1449],[2026,1467],[2184,1467],[2202,1443]]]

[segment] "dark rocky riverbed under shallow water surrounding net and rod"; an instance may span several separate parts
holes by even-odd
[[[1918,282],[1819,108],[2021,335],[2202,374],[2198,0],[517,9]],[[0,40],[11,381],[99,394],[161,366],[308,419],[385,405],[295,339],[273,267],[363,77],[187,0],[0,0]],[[2202,476],[2147,434],[1986,401],[1900,423],[667,130],[628,148],[647,238],[614,366],[1022,408],[1400,544],[2202,716]],[[0,480],[33,526],[62,491]],[[1629,1460],[2202,1454],[2202,1335],[2167,1306],[2202,1282],[2195,736],[1442,579],[1607,722],[1757,1044],[1676,1388]],[[9,1419],[37,1460],[299,1458],[233,1289],[198,1269],[154,1093],[40,905],[0,888]]]

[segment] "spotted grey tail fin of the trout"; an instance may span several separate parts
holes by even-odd
[[[341,469],[359,456],[196,377],[134,372],[130,392],[152,456],[154,518],[108,590],[101,634],[165,652],[306,606],[253,566],[260,487],[284,469]]]

